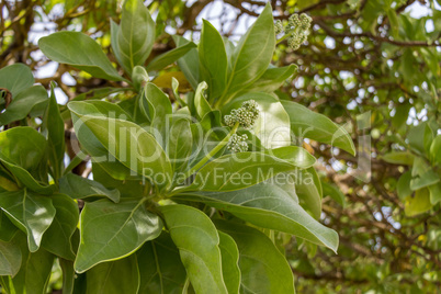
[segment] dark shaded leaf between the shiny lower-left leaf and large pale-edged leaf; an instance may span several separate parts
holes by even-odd
[[[63,194],[54,194],[50,200],[56,214],[43,237],[42,247],[60,258],[75,260],[70,239],[79,220],[78,204]]]

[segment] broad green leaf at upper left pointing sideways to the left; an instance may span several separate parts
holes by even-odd
[[[57,32],[42,37],[38,46],[54,61],[71,65],[95,78],[124,80],[102,52],[101,46],[83,33]]]

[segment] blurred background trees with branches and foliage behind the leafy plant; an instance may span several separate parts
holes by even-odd
[[[319,159],[316,168],[327,195],[321,222],[339,234],[340,247],[335,255],[295,239],[285,241],[298,293],[436,293],[441,287],[440,3],[270,3],[274,19],[283,24],[292,13],[304,12],[313,19],[307,42],[299,49],[290,49],[287,39],[278,44],[273,64],[298,66],[279,97],[344,125],[358,148],[358,156],[352,157],[315,140],[303,143]],[[157,22],[149,63],[177,46],[170,34],[197,42],[202,18],[237,41],[265,1],[163,0],[145,4]],[[105,88],[123,87],[124,81],[91,78],[50,61],[37,41],[58,31],[83,32],[115,63],[110,54],[109,19],[118,22],[120,7],[118,1],[103,0],[2,1],[0,68],[29,65],[36,82],[46,89],[50,81],[57,83],[61,104],[80,94],[112,94],[112,100],[118,93]],[[160,75],[166,78],[155,83],[171,92],[173,76],[185,91],[190,81],[177,72],[176,65],[168,66]],[[67,129],[67,140],[70,135]],[[90,170],[84,162],[75,172],[87,174]]]

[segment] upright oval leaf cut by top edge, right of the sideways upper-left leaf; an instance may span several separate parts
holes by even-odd
[[[113,50],[127,74],[135,66],[142,66],[150,55],[155,44],[155,22],[140,0],[126,0],[116,34]]]

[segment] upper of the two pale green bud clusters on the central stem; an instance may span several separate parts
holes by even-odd
[[[233,110],[230,115],[225,115],[225,124],[233,127],[236,123],[244,128],[251,128],[259,117],[258,103],[255,100],[245,101],[241,108]]]

